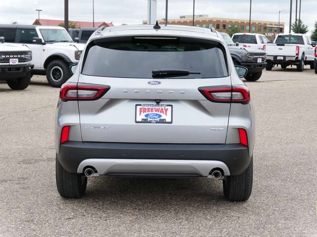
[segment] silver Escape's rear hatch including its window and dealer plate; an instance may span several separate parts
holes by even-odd
[[[224,144],[230,103],[211,102],[199,88],[231,88],[225,55],[216,41],[186,37],[91,42],[78,87],[85,94],[106,86],[106,93],[79,100],[82,140]]]

